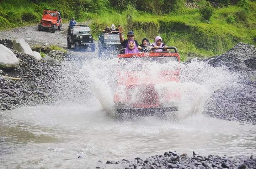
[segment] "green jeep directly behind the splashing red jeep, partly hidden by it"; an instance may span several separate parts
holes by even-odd
[[[110,56],[119,54],[122,49],[119,34],[101,33],[98,43],[98,56]]]

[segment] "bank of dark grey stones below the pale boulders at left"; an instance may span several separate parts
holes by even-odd
[[[20,65],[12,71],[2,70],[0,110],[52,102],[51,96],[55,92],[59,64],[38,61],[31,55],[16,51],[14,53],[20,60]],[[21,80],[11,80],[8,77],[21,78]]]

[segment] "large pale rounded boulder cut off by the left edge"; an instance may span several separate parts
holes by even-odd
[[[20,61],[10,49],[0,44],[0,51],[1,69],[15,69],[19,66]]]

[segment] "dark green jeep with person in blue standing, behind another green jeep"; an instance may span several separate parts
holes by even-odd
[[[76,50],[79,49],[79,47],[84,47],[85,49],[90,47],[92,51],[95,51],[95,43],[91,29],[87,25],[69,26],[67,41],[68,49],[70,49],[72,45],[75,45]]]

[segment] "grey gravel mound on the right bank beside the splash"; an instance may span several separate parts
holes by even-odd
[[[256,125],[256,48],[238,43],[228,52],[204,61],[213,67],[226,66],[231,72],[241,73],[241,87],[215,91],[205,104],[204,114]]]

